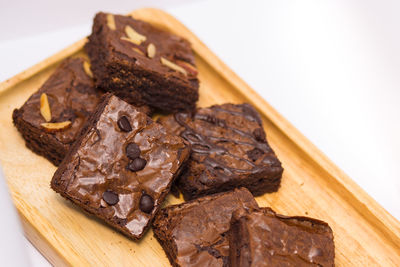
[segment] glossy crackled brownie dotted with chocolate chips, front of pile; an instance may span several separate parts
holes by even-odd
[[[189,152],[182,138],[106,94],[55,172],[51,187],[137,240]]]

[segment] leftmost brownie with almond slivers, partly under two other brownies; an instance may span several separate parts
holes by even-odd
[[[58,165],[100,98],[89,64],[83,58],[68,58],[14,110],[13,122],[28,148]]]

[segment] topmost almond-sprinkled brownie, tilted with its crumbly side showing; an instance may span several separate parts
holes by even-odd
[[[85,49],[97,87],[166,112],[195,108],[199,81],[187,40],[130,16],[98,13]]]

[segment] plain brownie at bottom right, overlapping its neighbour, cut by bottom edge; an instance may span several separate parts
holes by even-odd
[[[332,229],[323,221],[270,208],[233,213],[228,232],[232,267],[334,266]]]

